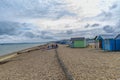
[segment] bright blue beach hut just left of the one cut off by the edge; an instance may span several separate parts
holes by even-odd
[[[102,50],[115,50],[115,35],[99,35],[95,37],[95,47]]]

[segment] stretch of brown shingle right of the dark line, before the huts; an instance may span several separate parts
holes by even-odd
[[[120,80],[120,52],[61,45],[57,51],[75,80]]]

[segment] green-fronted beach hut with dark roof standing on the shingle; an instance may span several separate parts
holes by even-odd
[[[71,38],[72,48],[85,48],[87,46],[86,39],[84,37]]]

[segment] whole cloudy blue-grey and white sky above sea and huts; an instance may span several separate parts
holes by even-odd
[[[0,0],[0,43],[119,32],[120,0]]]

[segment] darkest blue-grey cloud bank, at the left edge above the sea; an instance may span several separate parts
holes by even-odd
[[[20,35],[24,32],[35,30],[33,27],[37,28],[29,23],[2,21],[0,22],[0,35]]]

